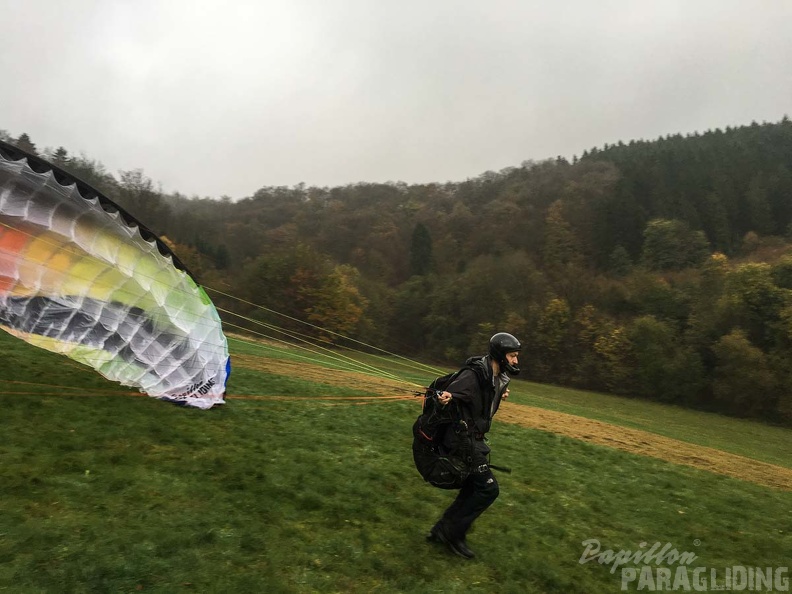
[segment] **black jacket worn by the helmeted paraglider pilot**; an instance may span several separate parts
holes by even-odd
[[[488,355],[471,357],[465,361],[465,368],[446,391],[451,392],[460,405],[462,417],[469,424],[472,422],[474,431],[483,436],[490,430],[492,417],[500,407],[503,392],[509,381],[506,372],[501,372],[497,378],[494,377],[491,358]]]

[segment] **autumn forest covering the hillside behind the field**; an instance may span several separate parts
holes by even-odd
[[[273,336],[348,337],[448,366],[508,331],[529,380],[792,424],[786,116],[459,182],[265,186],[237,201],[0,138],[165,238],[234,312],[231,331],[239,314]]]

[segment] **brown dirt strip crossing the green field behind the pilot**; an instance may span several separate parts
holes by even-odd
[[[279,375],[292,375],[318,383],[346,386],[355,390],[370,392],[371,396],[327,397],[327,403],[347,402],[367,404],[377,401],[419,400],[411,395],[411,390],[421,390],[419,386],[410,388],[403,380],[389,379],[349,370],[328,370],[326,367],[310,363],[296,363],[283,359],[237,355],[234,364],[258,371]],[[304,399],[289,396],[229,396],[246,399]],[[315,399],[315,398],[313,398]],[[550,431],[598,445],[616,448],[632,454],[651,456],[675,464],[684,464],[710,472],[736,477],[759,485],[792,491],[792,470],[760,462],[737,454],[730,454],[714,448],[699,446],[655,433],[629,429],[578,417],[567,413],[506,402],[498,411],[499,422],[514,423],[522,427]]]

